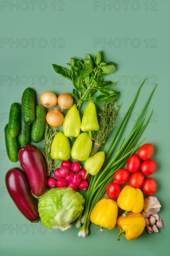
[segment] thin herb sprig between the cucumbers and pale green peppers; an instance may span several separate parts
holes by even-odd
[[[41,145],[43,146],[43,148],[42,148],[43,150],[41,152],[45,158],[46,175],[47,176],[49,176],[55,168],[53,165],[54,160],[51,157],[51,146],[52,146],[53,137],[57,133],[58,133],[57,128],[55,128],[53,130],[52,127],[46,123],[46,128],[45,128],[45,132],[44,132],[44,140],[41,143]]]

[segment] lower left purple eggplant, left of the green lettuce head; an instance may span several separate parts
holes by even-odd
[[[25,172],[20,168],[12,168],[7,172],[5,180],[8,193],[20,212],[30,222],[38,222],[38,206],[31,194]]]

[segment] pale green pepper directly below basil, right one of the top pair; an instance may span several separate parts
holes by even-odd
[[[92,101],[85,108],[85,112],[81,121],[81,130],[83,132],[89,132],[91,136],[92,131],[98,131],[98,118],[96,113],[96,107]]]

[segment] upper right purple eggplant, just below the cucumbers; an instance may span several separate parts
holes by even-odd
[[[46,192],[46,167],[39,149],[33,145],[26,145],[19,150],[19,161],[28,178],[30,188],[35,197]]]

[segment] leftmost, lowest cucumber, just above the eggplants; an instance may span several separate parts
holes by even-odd
[[[7,156],[11,162],[18,161],[18,151],[19,151],[19,143],[17,137],[11,137],[8,131],[8,124],[6,125],[5,129],[5,145],[7,150]]]

